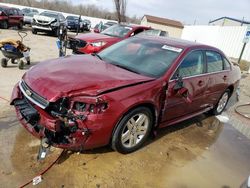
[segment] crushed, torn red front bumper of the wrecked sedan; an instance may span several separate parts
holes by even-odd
[[[62,149],[85,150],[107,145],[115,123],[111,121],[112,114],[92,114],[86,120],[71,122],[77,124],[77,129],[71,132],[62,119],[25,97],[20,84],[13,89],[11,105],[15,106],[17,118],[32,135],[48,138],[52,146]]]

